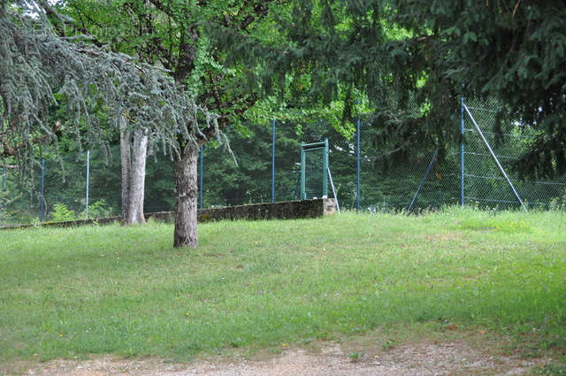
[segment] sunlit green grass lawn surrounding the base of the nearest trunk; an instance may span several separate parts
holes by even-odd
[[[0,233],[0,361],[187,359],[388,325],[484,326],[566,349],[566,214],[218,222]],[[525,340],[526,341],[526,340]]]

